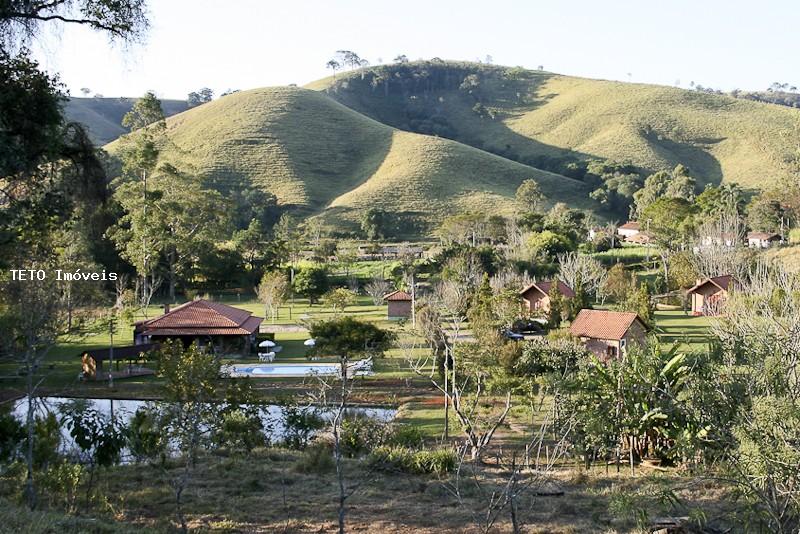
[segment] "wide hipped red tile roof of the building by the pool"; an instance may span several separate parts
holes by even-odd
[[[146,335],[244,335],[258,331],[263,319],[208,300],[193,300],[147,321],[136,323]]]

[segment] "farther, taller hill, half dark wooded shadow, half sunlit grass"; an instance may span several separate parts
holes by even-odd
[[[473,63],[416,62],[308,86],[394,127],[549,168],[569,159],[688,166],[702,183],[789,175],[800,110],[671,87]]]

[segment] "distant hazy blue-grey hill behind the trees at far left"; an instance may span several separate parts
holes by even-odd
[[[122,127],[122,117],[134,102],[135,98],[70,98],[64,112],[68,121],[86,126],[92,141],[100,146],[127,133]],[[188,108],[184,100],[162,100],[161,106],[168,117]]]

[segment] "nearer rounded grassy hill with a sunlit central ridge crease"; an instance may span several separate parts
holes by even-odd
[[[215,188],[258,187],[284,206],[353,225],[369,207],[435,223],[456,211],[508,211],[518,185],[590,207],[583,184],[455,141],[398,131],[322,93],[235,93],[167,120],[165,159]],[[109,148],[113,151],[116,144]]]

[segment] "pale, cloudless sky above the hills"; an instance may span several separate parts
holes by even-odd
[[[204,86],[305,84],[337,49],[377,63],[483,59],[575,76],[725,90],[800,85],[796,0],[150,0],[152,28],[121,50],[67,28],[37,55],[73,95],[185,98]],[[629,76],[630,73],[630,76]]]

